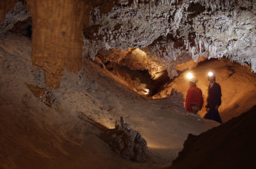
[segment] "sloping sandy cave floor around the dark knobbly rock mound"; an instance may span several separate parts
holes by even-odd
[[[167,167],[187,134],[219,125],[198,121],[175,100],[140,98],[88,60],[78,73],[66,71],[60,88],[48,90],[43,71],[32,68],[31,41],[12,32],[0,35],[0,65],[0,168]],[[146,139],[148,161],[118,157],[81,112],[107,128],[125,117]]]

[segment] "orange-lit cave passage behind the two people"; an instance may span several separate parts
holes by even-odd
[[[115,58],[117,54],[120,56],[118,59]],[[183,94],[185,101],[189,88],[186,75],[187,72],[192,72],[197,78],[197,87],[203,91],[204,105],[207,103],[209,85],[206,78],[207,72],[214,71],[216,81],[221,85],[222,104],[219,110],[224,122],[248,111],[256,104],[254,99],[256,98],[254,92],[256,75],[250,71],[249,66],[241,66],[228,58],[202,57],[198,62],[187,61],[177,65],[178,76],[172,79],[169,78],[167,70],[161,68],[159,62],[153,61],[138,48],[130,51],[112,49],[105,52],[105,55],[97,55],[97,58],[102,68],[106,68],[107,71],[125,81],[126,85],[142,98],[167,98],[174,88]],[[205,113],[203,106],[198,114],[203,118]]]

